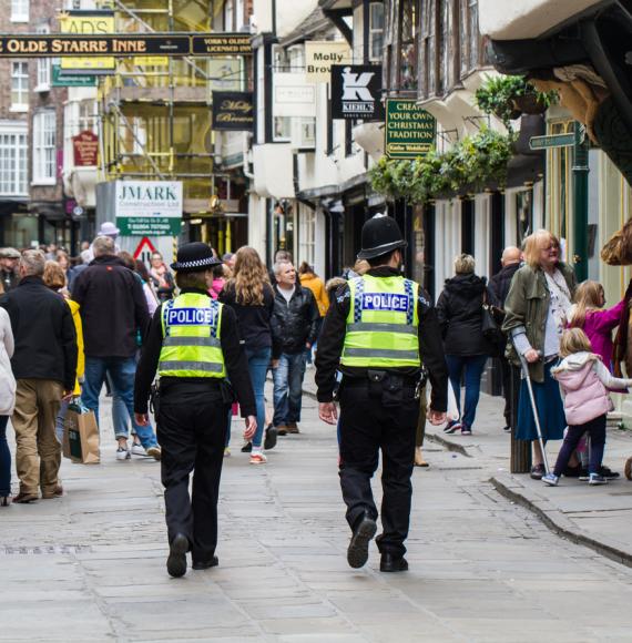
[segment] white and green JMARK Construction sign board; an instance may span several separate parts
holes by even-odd
[[[121,236],[177,236],[182,228],[182,182],[116,181],[114,208]]]

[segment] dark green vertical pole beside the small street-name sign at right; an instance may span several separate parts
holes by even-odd
[[[588,141],[582,141],[582,125],[575,121],[573,146],[573,262],[578,282],[588,279]]]

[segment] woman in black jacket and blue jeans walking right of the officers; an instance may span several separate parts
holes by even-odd
[[[450,420],[444,432],[460,429],[471,436],[480,397],[480,379],[493,346],[482,334],[483,304],[496,298],[487,287],[487,279],[475,274],[475,258],[468,254],[455,258],[455,277],[446,285],[437,302],[437,318],[441,326],[446,361],[455,390],[461,420]],[[461,415],[461,378],[465,374],[466,399]]]

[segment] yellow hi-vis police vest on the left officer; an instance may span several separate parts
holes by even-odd
[[[185,293],[162,307],[162,377],[226,377],[220,343],[222,304]]]

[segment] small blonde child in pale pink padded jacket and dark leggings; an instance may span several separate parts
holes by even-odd
[[[632,386],[632,379],[614,377],[592,353],[590,339],[581,328],[569,328],[560,339],[559,355],[562,361],[551,375],[560,382],[564,400],[564,416],[569,428],[551,473],[542,482],[555,487],[577,449],[584,432],[590,435],[589,484],[605,484],[601,474],[601,461],[605,447],[605,417],[613,410],[609,389]]]

